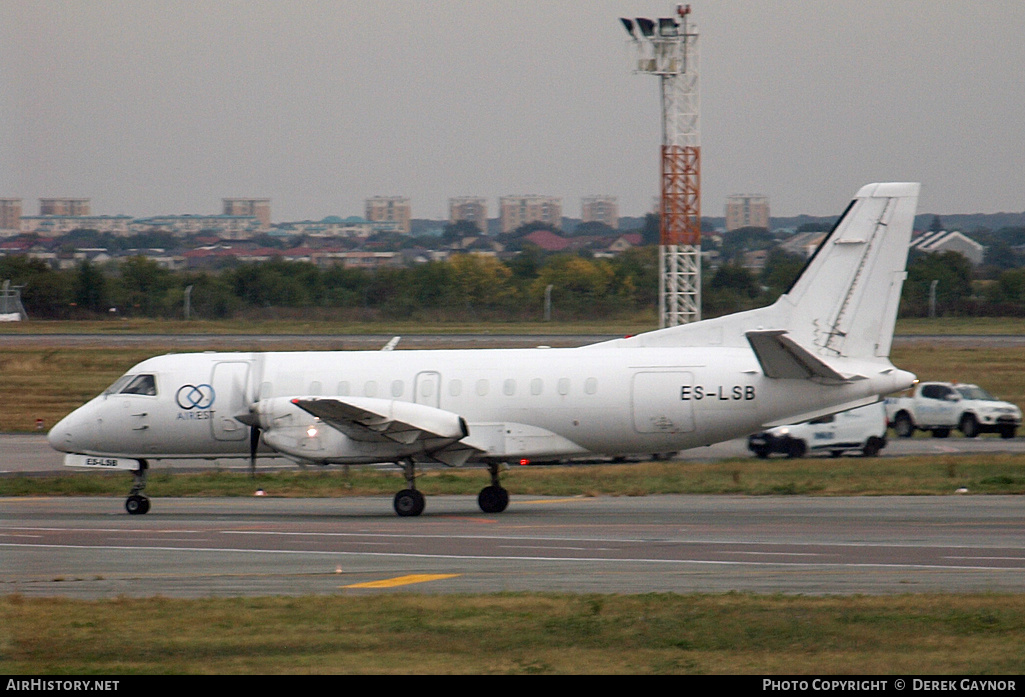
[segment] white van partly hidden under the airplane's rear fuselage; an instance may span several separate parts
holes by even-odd
[[[886,445],[887,413],[881,402],[805,423],[776,426],[747,439],[747,448],[762,458],[772,453],[804,457],[814,452],[839,457],[851,451],[873,457]]]

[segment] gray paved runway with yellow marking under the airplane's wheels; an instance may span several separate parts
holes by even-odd
[[[1022,499],[0,499],[0,593],[1025,590]]]

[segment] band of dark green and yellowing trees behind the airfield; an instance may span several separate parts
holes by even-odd
[[[456,254],[444,261],[374,271],[281,259],[220,271],[168,271],[142,256],[102,265],[82,260],[58,271],[40,260],[7,256],[0,258],[0,280],[23,286],[31,319],[181,319],[188,292],[191,317],[206,320],[530,321],[543,317],[548,288],[551,319],[615,319],[657,306],[657,254],[655,246],[614,258],[545,254],[526,247],[508,260]],[[756,273],[737,260],[705,269],[702,316],[774,301],[804,263],[774,249]],[[960,254],[913,253],[901,316],[926,317],[933,311],[940,316],[1025,317],[1025,269],[978,279]]]

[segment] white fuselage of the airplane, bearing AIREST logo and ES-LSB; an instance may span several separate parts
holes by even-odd
[[[246,457],[250,430],[238,417],[256,401],[264,442],[296,459],[418,454],[419,446],[316,428],[319,419],[291,403],[304,396],[458,414],[468,426],[463,442],[479,451],[475,459],[651,454],[746,436],[796,413],[874,398],[891,384],[901,388],[892,374],[844,385],[767,378],[753,353],[740,347],[206,353],[153,358],[127,375],[152,375],[154,394],[101,395],[54,426],[51,444],[98,456]],[[837,391],[846,394],[837,398]]]

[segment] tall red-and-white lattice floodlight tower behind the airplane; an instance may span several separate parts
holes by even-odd
[[[690,5],[658,20],[620,17],[638,53],[634,72],[656,75],[662,96],[659,326],[701,319],[701,147],[698,35]]]

